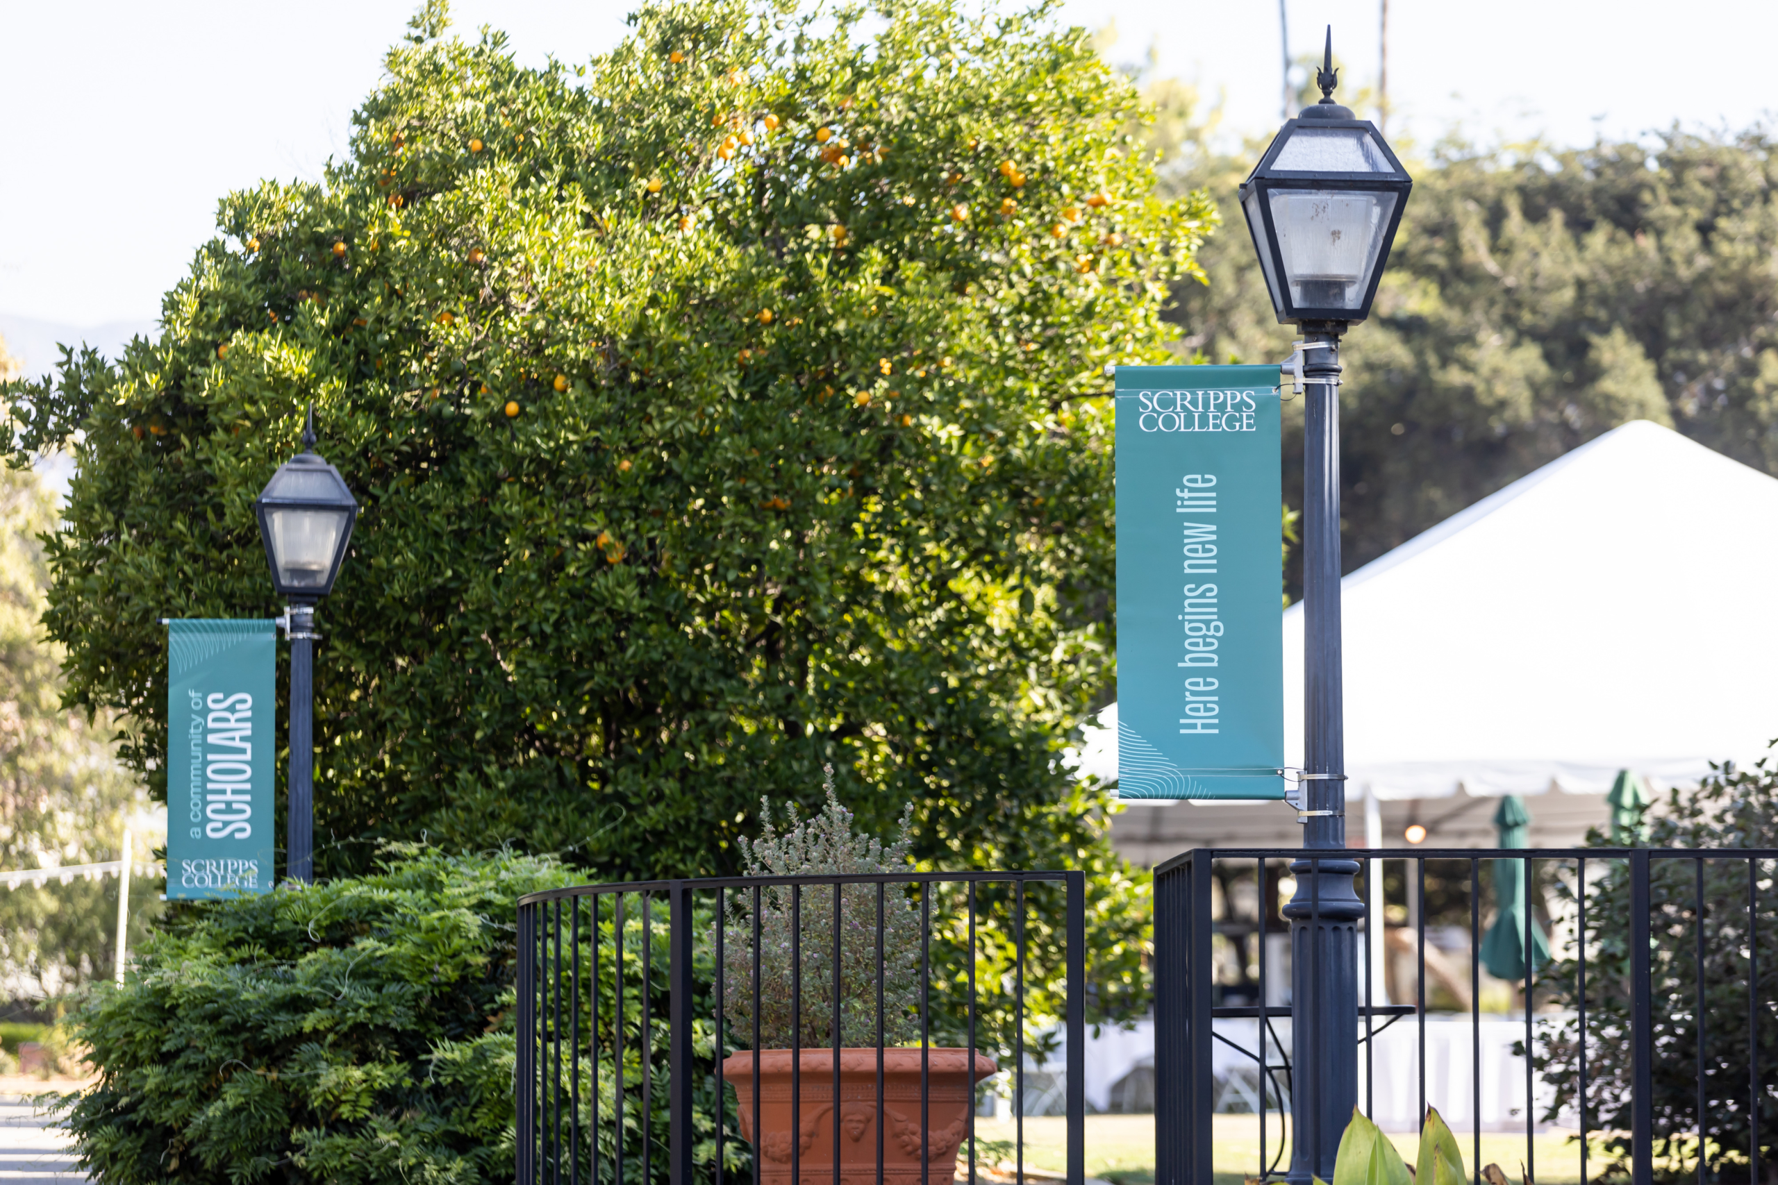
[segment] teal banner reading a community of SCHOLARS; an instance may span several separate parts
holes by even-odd
[[[270,892],[277,625],[167,624],[167,897]]]

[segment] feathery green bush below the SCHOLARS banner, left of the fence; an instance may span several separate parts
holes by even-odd
[[[516,906],[551,862],[386,849],[357,879],[176,906],[69,1027],[108,1185],[512,1180]]]

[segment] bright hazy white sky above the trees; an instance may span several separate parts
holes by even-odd
[[[1378,0],[1287,0],[1293,53],[1334,25],[1371,85]],[[418,0],[9,0],[0,5],[0,314],[89,327],[153,322],[212,235],[217,199],[258,178],[316,178]],[[629,0],[457,0],[525,62],[585,60]],[[1113,57],[1223,96],[1225,128],[1278,121],[1277,0],[1065,0],[1115,21]],[[1778,107],[1774,0],[1390,0],[1390,139],[1744,128]]]

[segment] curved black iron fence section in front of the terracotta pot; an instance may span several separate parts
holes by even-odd
[[[1026,1078],[1060,1057],[1045,1176],[1083,1185],[1085,919],[1079,872],[525,897],[517,1181],[1022,1183]]]

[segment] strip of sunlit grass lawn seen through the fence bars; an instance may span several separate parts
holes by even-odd
[[[1216,1185],[1243,1185],[1259,1169],[1259,1119],[1255,1116],[1214,1116],[1211,1130],[1216,1137]],[[1277,1153],[1278,1117],[1266,1123],[1266,1137]],[[1463,1167],[1476,1157],[1474,1135],[1458,1132]],[[978,1141],[1012,1141],[1012,1119],[976,1119]],[[1403,1160],[1414,1162],[1419,1135],[1392,1133]],[[1533,1178],[1540,1185],[1577,1185],[1581,1180],[1581,1149],[1566,1132],[1549,1132],[1533,1139]],[[1597,1151],[1595,1151],[1597,1157]],[[1481,1164],[1499,1164],[1508,1180],[1520,1180],[1520,1162],[1526,1158],[1526,1137],[1502,1132],[1481,1133]],[[983,1155],[983,1162],[990,1157]],[[1588,1158],[1590,1174],[1597,1174],[1604,1158]],[[1045,1174],[1067,1169],[1067,1119],[1061,1116],[1029,1117],[1024,1121],[1024,1162]],[[1287,1167],[1287,1165],[1280,1165]],[[1149,1185],[1154,1181],[1154,1116],[1086,1116],[1086,1176],[1097,1176],[1117,1185]]]

